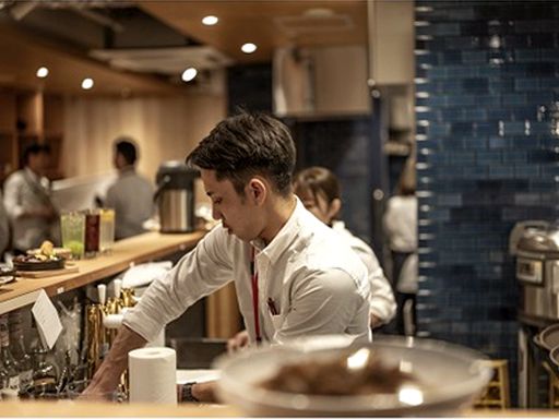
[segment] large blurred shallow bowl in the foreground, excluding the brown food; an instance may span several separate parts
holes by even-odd
[[[479,362],[480,352],[448,343],[382,337],[372,344],[352,345],[352,352],[370,351],[386,366],[412,373],[417,385],[403,384],[394,393],[323,396],[265,390],[261,383],[281,366],[347,354],[340,340],[330,338],[257,348],[218,359],[222,371],[219,398],[247,416],[435,416],[452,415],[472,405],[491,376]],[[322,342],[322,343],[321,343]],[[333,345],[334,343],[334,345]]]

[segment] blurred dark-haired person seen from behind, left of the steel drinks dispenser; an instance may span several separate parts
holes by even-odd
[[[135,171],[138,152],[130,137],[115,140],[115,167],[118,179],[110,185],[105,206],[116,213],[117,240],[144,232],[143,224],[153,214],[153,185]]]

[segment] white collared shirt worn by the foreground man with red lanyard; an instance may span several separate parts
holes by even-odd
[[[370,339],[366,267],[298,199],[276,237],[265,247],[260,240],[252,246],[263,340],[282,343],[320,334]],[[150,286],[123,323],[152,340],[164,324],[198,299],[234,280],[245,325],[254,342],[250,254],[251,244],[217,225],[165,278]],[[272,314],[269,299],[278,314]]]

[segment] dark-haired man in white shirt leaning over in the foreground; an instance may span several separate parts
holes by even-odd
[[[200,169],[221,223],[126,314],[88,396],[112,391],[129,350],[231,280],[252,345],[326,334],[370,340],[367,270],[293,193],[295,145],[282,122],[262,113],[227,118],[187,164]],[[211,402],[213,390],[213,382],[189,383],[179,394]]]

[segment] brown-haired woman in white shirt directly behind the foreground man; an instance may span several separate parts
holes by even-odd
[[[396,312],[396,303],[374,252],[365,241],[349,232],[343,222],[337,220],[342,200],[336,176],[324,167],[310,167],[295,177],[294,184],[295,193],[305,207],[322,223],[332,227],[367,266],[371,286],[369,299],[371,327],[379,327],[390,322]]]

